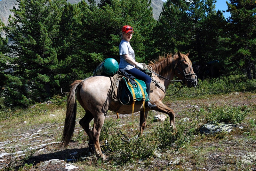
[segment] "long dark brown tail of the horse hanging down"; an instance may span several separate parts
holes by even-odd
[[[67,100],[66,119],[60,146],[68,146],[68,143],[73,137],[76,124],[76,87],[80,85],[82,81],[83,80],[76,80],[71,84],[71,89]]]

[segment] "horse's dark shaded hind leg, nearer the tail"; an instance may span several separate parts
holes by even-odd
[[[89,150],[90,152],[94,153],[95,147],[94,147],[94,141],[92,138],[92,131],[89,128],[89,123],[92,121],[93,115],[90,111],[86,111],[84,117],[79,121],[79,124],[82,126],[82,128],[85,130],[86,134],[90,138],[89,141]]]

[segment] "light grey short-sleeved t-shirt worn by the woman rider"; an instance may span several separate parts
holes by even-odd
[[[128,63],[124,59],[123,55],[125,54],[128,54],[135,61],[134,50],[132,49],[130,43],[123,39],[119,44],[119,55],[120,55],[119,69],[131,70],[132,68],[134,68],[134,65]]]

